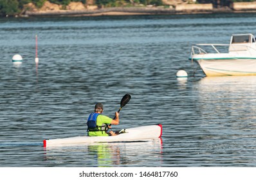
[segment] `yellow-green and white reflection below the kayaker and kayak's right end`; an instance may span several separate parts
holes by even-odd
[[[143,163],[138,161],[138,156],[155,156],[153,159],[161,159],[162,141],[158,138],[148,141],[98,143],[88,145],[87,150],[96,167],[133,166]]]

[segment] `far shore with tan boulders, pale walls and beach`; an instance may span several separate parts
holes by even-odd
[[[169,0],[170,1],[170,0]],[[172,1],[173,2],[173,1]],[[213,4],[168,4],[165,6],[138,6],[98,8],[95,5],[82,3],[70,3],[65,9],[58,4],[46,1],[42,8],[38,9],[34,4],[24,6],[21,17],[32,16],[98,16],[98,15],[160,15],[160,14],[185,14],[185,13],[242,13],[256,12],[256,3],[233,3],[232,6],[214,8]]]

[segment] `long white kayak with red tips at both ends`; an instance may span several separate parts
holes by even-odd
[[[59,138],[53,140],[43,140],[44,147],[58,147],[69,145],[81,145],[90,143],[118,142],[118,141],[140,141],[160,138],[162,125],[147,125],[125,129],[125,133],[117,136],[77,136],[72,138]]]

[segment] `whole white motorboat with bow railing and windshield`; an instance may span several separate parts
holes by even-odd
[[[234,34],[230,44],[196,44],[189,59],[196,61],[206,76],[256,75],[255,37],[251,33]]]

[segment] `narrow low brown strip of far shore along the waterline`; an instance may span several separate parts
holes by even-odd
[[[104,16],[104,15],[176,15],[202,13],[256,13],[256,10],[232,10],[230,8],[214,8],[212,10],[184,10],[177,11],[170,8],[101,8],[97,10],[51,10],[26,11],[20,17],[35,16]]]

